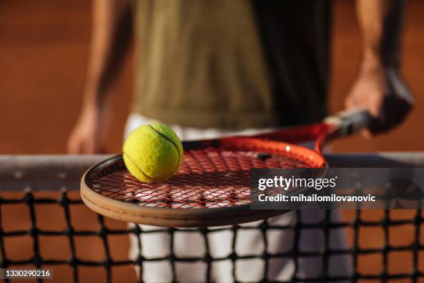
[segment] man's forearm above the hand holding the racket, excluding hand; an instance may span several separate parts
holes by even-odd
[[[362,69],[376,66],[398,69],[403,0],[357,0],[363,37]]]

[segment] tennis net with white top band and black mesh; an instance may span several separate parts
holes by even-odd
[[[335,219],[324,211],[318,221],[301,221],[302,212],[293,213],[290,223],[260,221],[254,225],[184,230],[151,229],[104,218],[91,212],[79,196],[80,177],[92,164],[107,158],[97,156],[3,156],[0,157],[0,267],[53,268],[54,282],[144,282],[143,271],[150,264],[166,262],[172,282],[182,264],[200,264],[204,282],[213,282],[215,264],[227,261],[233,282],[424,282],[424,236],[421,210],[346,210]],[[422,166],[423,155],[332,155],[330,163],[349,166]],[[317,250],[300,245],[302,233],[318,230],[322,243]],[[344,248],[332,246],[332,233],[347,235]],[[229,252],[214,255],[209,250],[211,236],[231,233]],[[260,249],[243,252],[240,234],[256,233]],[[130,235],[139,241],[145,234],[166,233],[169,252],[129,257]],[[284,250],[270,250],[270,233],[292,234]],[[200,255],[181,256],[175,252],[175,238],[181,233],[197,233],[204,242]],[[348,257],[352,271],[331,274],[330,263]],[[310,277],[299,274],[299,262],[317,259],[319,272]],[[270,280],[270,262],[292,264],[289,275]],[[260,278],[243,277],[242,262],[254,261]],[[137,268],[139,267],[139,268]],[[137,274],[138,273],[138,274]],[[42,280],[38,280],[42,282]],[[6,280],[6,282],[8,282]]]

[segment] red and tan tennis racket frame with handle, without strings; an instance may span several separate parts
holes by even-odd
[[[302,148],[295,144],[285,142],[277,143],[281,146],[297,147],[299,150],[310,153],[312,157],[321,157],[324,162],[321,166],[321,175],[324,174],[328,167],[321,153],[321,148],[326,142],[333,140],[335,137],[351,135],[353,132],[369,126],[370,116],[366,110],[348,110],[339,112],[324,120],[323,123],[315,123],[311,126],[303,126],[294,129],[299,135],[302,133],[309,136],[315,136],[315,151],[309,148]],[[260,139],[281,139],[284,131],[265,133],[256,136],[256,140]],[[255,141],[255,137],[245,137],[250,141]],[[310,137],[308,137],[310,138]],[[200,147],[218,147],[225,142],[233,142],[243,137],[227,137],[222,139],[203,140],[203,141],[187,141],[184,142],[184,149],[200,148]],[[289,149],[290,150],[290,149]],[[250,203],[243,205],[233,205],[230,207],[213,207],[213,208],[193,208],[193,209],[172,209],[145,207],[134,203],[115,200],[98,194],[90,188],[89,176],[94,175],[108,166],[113,166],[117,162],[122,162],[122,155],[116,155],[104,162],[92,166],[81,179],[81,197],[83,202],[95,212],[104,216],[117,219],[119,221],[140,223],[145,225],[155,225],[163,227],[181,227],[181,228],[203,228],[211,226],[231,225],[234,223],[246,223],[269,218],[279,214],[284,214],[292,209],[250,209]],[[301,194],[301,189],[296,194]],[[294,193],[294,192],[292,192]],[[290,194],[290,193],[289,193]]]

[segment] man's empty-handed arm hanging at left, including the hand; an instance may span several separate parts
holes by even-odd
[[[108,88],[130,43],[130,1],[94,0],[91,51],[80,117],[68,140],[68,152],[101,153],[109,118]]]

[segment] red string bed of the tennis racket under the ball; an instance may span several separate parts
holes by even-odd
[[[281,147],[280,147],[281,148]],[[147,207],[193,209],[231,207],[250,203],[249,170],[300,168],[311,164],[293,158],[290,151],[255,147],[254,151],[203,148],[186,151],[178,173],[166,182],[136,180],[123,162],[93,174],[94,191]]]

